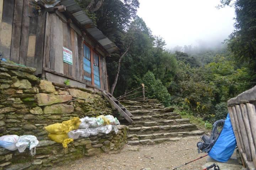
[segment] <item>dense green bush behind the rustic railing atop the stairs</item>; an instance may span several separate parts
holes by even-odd
[[[143,77],[145,84],[146,97],[151,99],[158,99],[166,107],[170,106],[171,95],[167,88],[162,84],[161,80],[155,79],[155,75],[148,71]]]

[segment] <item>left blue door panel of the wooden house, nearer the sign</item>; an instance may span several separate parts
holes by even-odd
[[[84,67],[84,79],[86,82],[91,84],[91,53],[89,46],[84,44],[84,59],[83,59],[83,67]]]

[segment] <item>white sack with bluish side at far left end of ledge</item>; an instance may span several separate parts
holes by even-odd
[[[17,135],[5,135],[0,137],[0,147],[8,150],[16,150],[16,143],[20,137]]]

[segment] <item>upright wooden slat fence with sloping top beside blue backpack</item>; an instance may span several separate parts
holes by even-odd
[[[228,101],[231,124],[243,165],[256,169],[256,86]]]

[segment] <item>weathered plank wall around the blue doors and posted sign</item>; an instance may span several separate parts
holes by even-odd
[[[62,73],[88,84],[89,81],[84,79],[85,71],[83,69],[84,43],[86,43],[91,50],[91,68],[94,68],[93,51],[96,51],[100,56],[100,88],[108,90],[105,54],[100,49],[94,48],[97,46],[95,42],[87,35],[82,34],[75,24],[68,23],[64,15],[60,16],[57,13],[47,13],[45,30],[43,67],[46,70]],[[62,47],[72,51],[73,65],[63,62]],[[92,75],[93,72],[91,69]],[[90,84],[95,86],[93,78]]]

